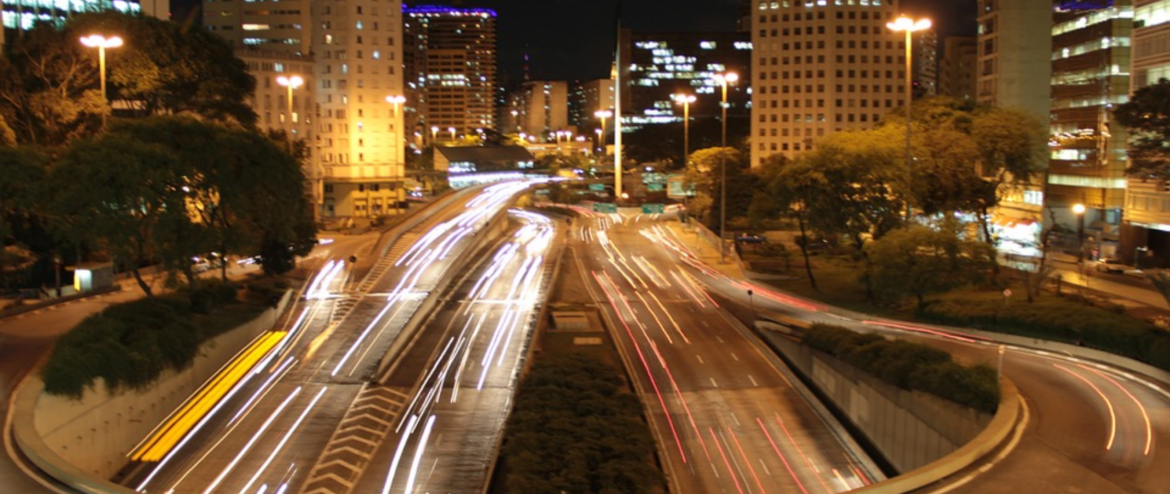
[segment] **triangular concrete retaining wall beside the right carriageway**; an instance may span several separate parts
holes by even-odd
[[[990,414],[902,390],[784,336],[762,332],[899,472],[954,453],[992,420]]]

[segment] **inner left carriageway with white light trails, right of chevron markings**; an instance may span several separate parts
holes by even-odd
[[[510,213],[518,227],[454,293],[384,384],[410,405],[358,493],[477,493],[488,480],[539,303],[558,255],[548,218]]]

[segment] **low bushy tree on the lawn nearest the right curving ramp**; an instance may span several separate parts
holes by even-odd
[[[866,246],[866,276],[887,297],[913,295],[918,307],[925,296],[971,283],[991,268],[994,251],[958,236],[959,225],[941,229],[911,226],[890,232]]]

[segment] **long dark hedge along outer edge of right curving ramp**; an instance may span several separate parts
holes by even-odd
[[[920,309],[920,316],[942,324],[1085,345],[1170,370],[1170,332],[1136,317],[1059,299],[1006,306],[1002,301],[948,300]]]

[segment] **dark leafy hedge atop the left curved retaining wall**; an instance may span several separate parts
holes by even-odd
[[[234,286],[208,286],[111,306],[57,341],[44,365],[44,391],[81,397],[96,378],[109,389],[142,389],[166,369],[191,365],[200,344],[262,307],[236,302]]]

